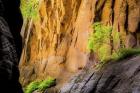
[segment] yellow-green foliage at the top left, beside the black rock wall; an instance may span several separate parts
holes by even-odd
[[[39,0],[21,0],[20,8],[24,18],[36,18],[39,11]]]

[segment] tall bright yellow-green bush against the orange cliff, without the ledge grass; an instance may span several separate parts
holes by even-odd
[[[102,23],[93,24],[94,31],[90,34],[88,40],[88,50],[98,54],[99,61],[104,61],[110,56],[110,38],[112,27],[105,26]]]

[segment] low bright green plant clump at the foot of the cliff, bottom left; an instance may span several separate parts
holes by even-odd
[[[35,90],[42,92],[55,85],[55,83],[55,79],[51,77],[43,81],[33,81],[25,88],[25,93],[32,93]]]

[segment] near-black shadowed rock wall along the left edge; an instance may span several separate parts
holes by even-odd
[[[0,92],[23,93],[19,83],[22,16],[19,0],[0,0]],[[7,6],[8,5],[8,6]],[[10,7],[10,8],[8,8]],[[12,11],[12,13],[9,11]],[[11,24],[12,23],[12,24]],[[16,24],[19,23],[19,24]],[[21,24],[20,24],[21,23]]]

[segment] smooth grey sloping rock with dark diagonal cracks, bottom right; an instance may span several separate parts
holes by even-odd
[[[139,60],[140,56],[135,56],[108,63],[100,71],[84,69],[59,93],[140,93]]]

